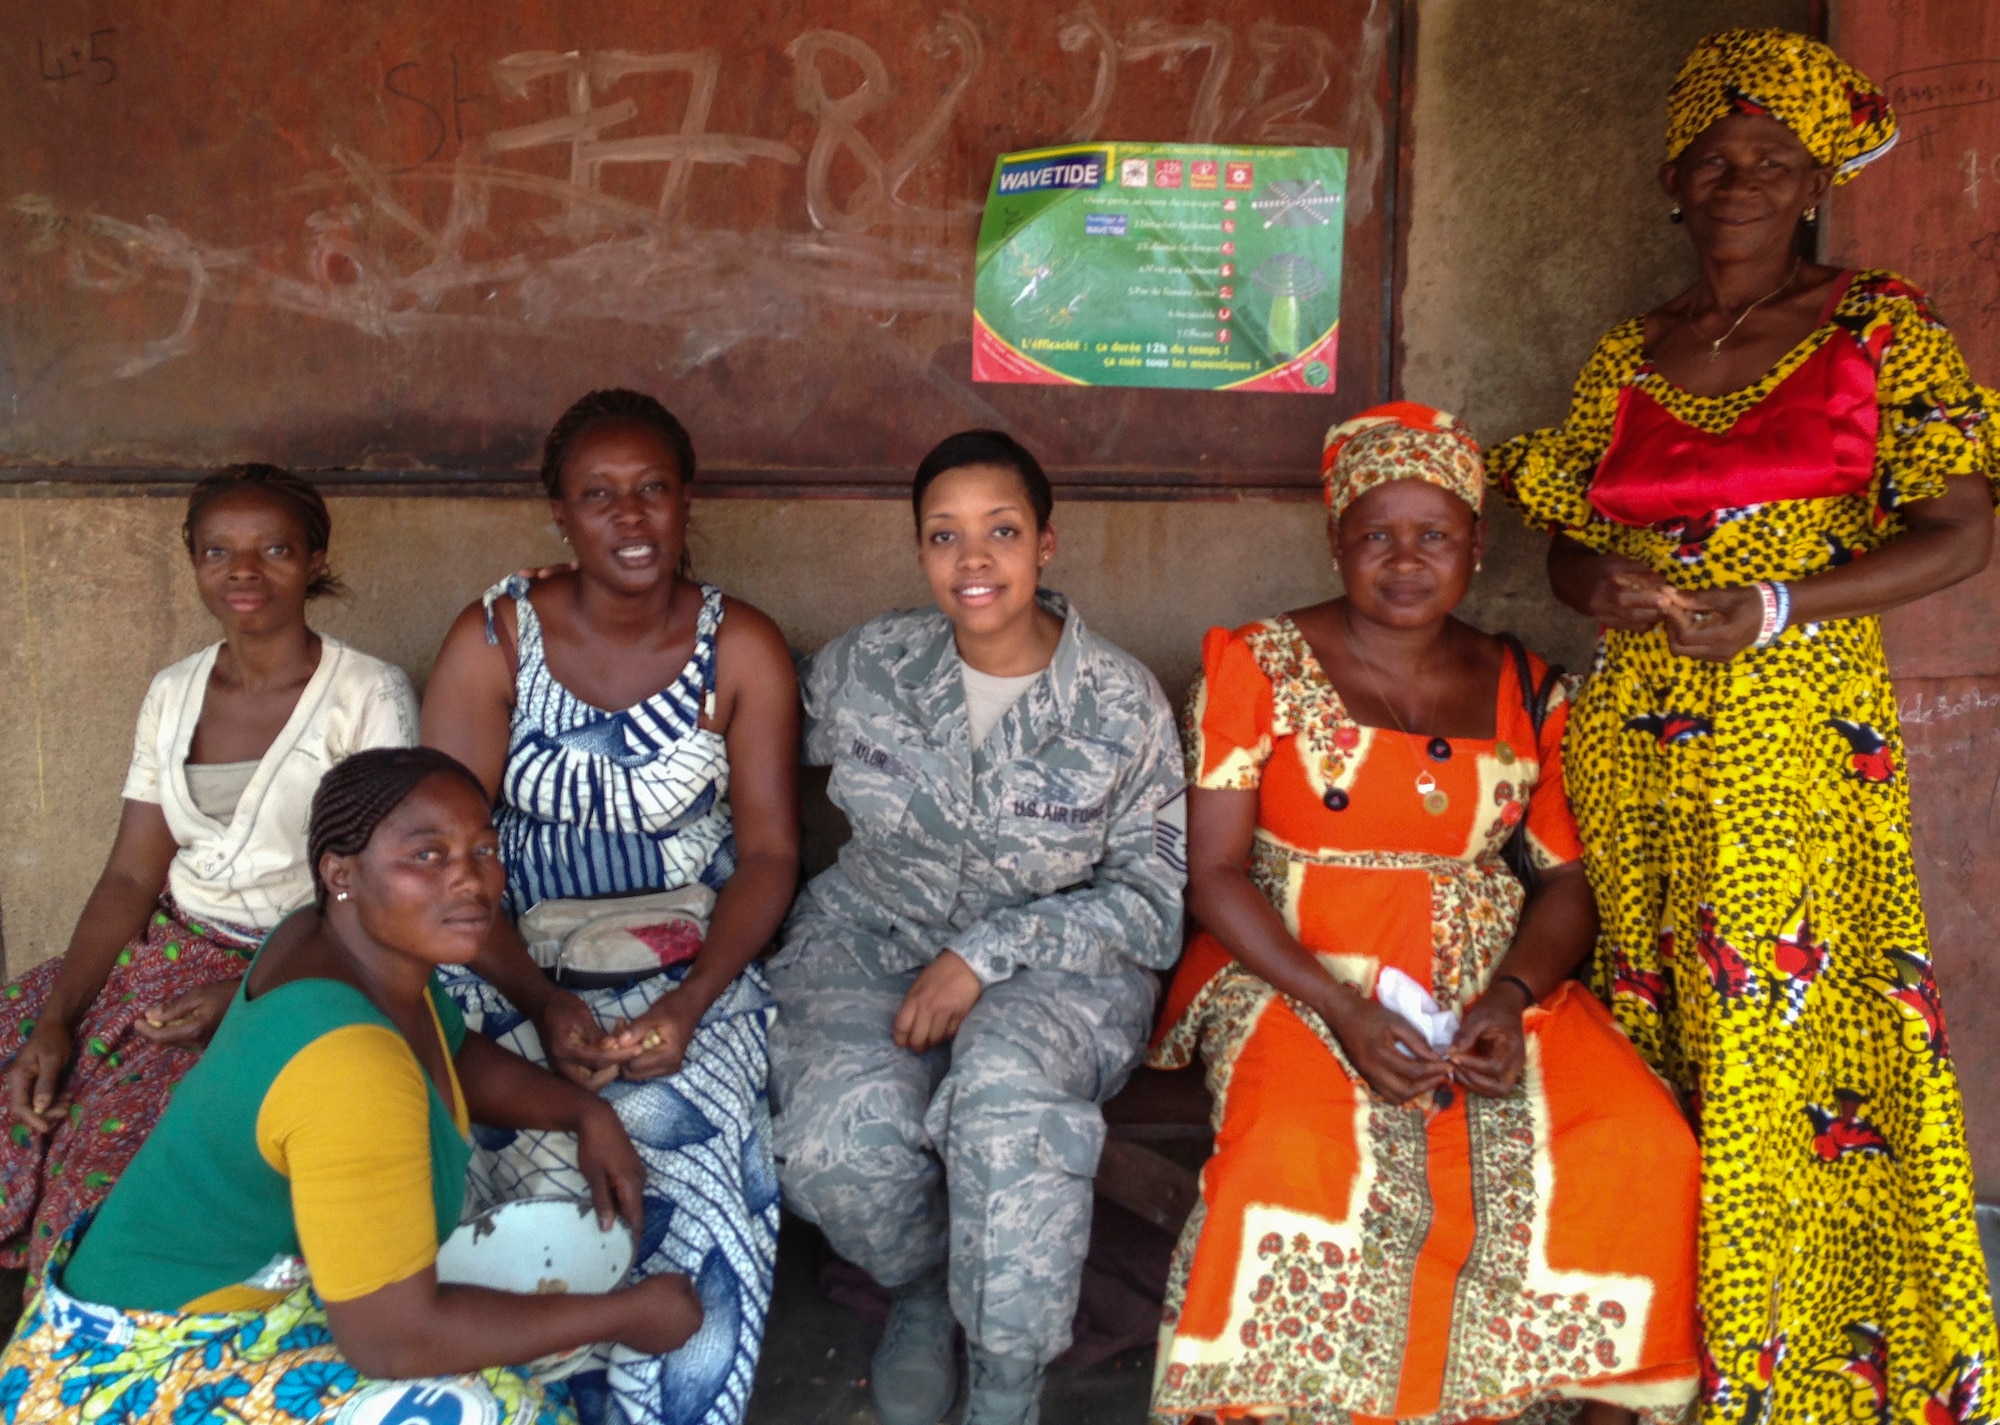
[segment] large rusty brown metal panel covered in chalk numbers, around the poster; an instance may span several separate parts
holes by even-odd
[[[1100,490],[1310,486],[1386,394],[1400,8],[8,6],[0,460],[504,482],[636,384],[746,492],[966,424]],[[1348,144],[1338,394],[974,386],[994,154],[1080,138]]]

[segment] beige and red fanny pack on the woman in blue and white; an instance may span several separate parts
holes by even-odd
[[[702,951],[716,893],[704,885],[598,901],[538,901],[520,939],[570,989],[628,989]]]

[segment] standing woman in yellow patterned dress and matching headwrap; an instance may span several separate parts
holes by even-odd
[[[1566,761],[1598,991],[1704,1163],[1704,1417],[1992,1413],[1994,1313],[1876,614],[1984,566],[1988,394],[1924,294],[1800,256],[1894,140],[1778,30],[1704,40],[1662,184],[1700,278],[1494,452],[1604,626]]]

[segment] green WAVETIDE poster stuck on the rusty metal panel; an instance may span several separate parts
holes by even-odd
[[[972,378],[1330,392],[1346,186],[1346,148],[1002,154]]]

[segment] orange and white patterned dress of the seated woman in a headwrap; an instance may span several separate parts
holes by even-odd
[[[1492,739],[1368,729],[1288,618],[1214,628],[1188,775],[1258,793],[1250,879],[1322,965],[1364,993],[1396,967],[1462,1011],[1514,939],[1514,827],[1542,867],[1580,855],[1566,712],[1558,696],[1536,739],[1508,668]],[[1512,1095],[1392,1107],[1314,1011],[1194,939],[1152,1063],[1200,1051],[1216,1151],[1168,1285],[1156,1419],[1458,1425],[1580,1397],[1686,1413],[1694,1135],[1582,985],[1524,1027]]]

